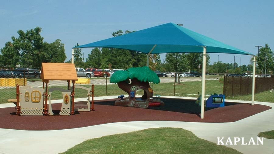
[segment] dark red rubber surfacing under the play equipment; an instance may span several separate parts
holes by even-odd
[[[161,100],[164,106],[147,109],[114,106],[115,100],[100,100],[95,102],[94,112],[76,112],[70,116],[18,116],[15,107],[0,108],[0,128],[58,130],[125,121],[234,122],[271,109],[265,105],[226,102],[225,107],[205,108],[204,119],[201,119],[201,107],[193,100]],[[53,104],[52,107],[60,110],[61,103]]]

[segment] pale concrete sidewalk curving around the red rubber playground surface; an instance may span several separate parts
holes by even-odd
[[[99,100],[102,98],[107,99],[110,97],[105,96],[96,99]],[[250,103],[250,101],[244,101],[244,103]],[[248,143],[252,137],[255,140],[255,143],[257,143],[256,137],[259,132],[274,129],[274,103],[255,103],[270,106],[272,109],[255,114],[240,121],[230,123],[136,121],[100,124],[83,128],[53,131],[0,129],[0,153],[59,153],[65,152],[67,149],[72,148],[74,145],[87,139],[159,127],[183,128],[192,131],[199,138],[206,139],[216,144],[217,137],[224,137],[224,143],[227,141],[227,138],[231,138],[232,142],[234,142],[234,137],[244,137],[244,143]],[[8,107],[9,105],[14,106],[14,104],[11,103],[0,104],[0,107]],[[226,146],[236,149],[242,153],[274,153],[274,140],[272,139],[264,139],[263,145],[241,145],[241,142],[238,142],[237,145]]]

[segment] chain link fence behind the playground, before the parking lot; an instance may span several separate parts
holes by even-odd
[[[5,70],[7,71],[7,70]],[[16,98],[16,84],[19,86],[31,86],[31,87],[43,87],[43,82],[40,79],[37,79],[37,76],[30,76],[30,72],[20,73],[17,71],[17,74],[21,75],[1,75],[0,71],[0,103],[10,103],[8,99]],[[13,70],[13,72],[16,72]],[[12,73],[12,72],[10,72]],[[14,73],[16,74],[16,73]],[[184,97],[198,97],[202,91],[202,77],[201,74],[192,74],[192,73],[176,73],[176,77],[160,77],[159,84],[150,83],[150,87],[153,89],[154,96],[184,96]],[[188,75],[186,75],[188,74]],[[206,74],[206,97],[211,94],[223,94],[224,92],[224,74]],[[273,78],[273,76],[272,76]],[[93,77],[93,78],[81,78],[86,79],[85,83],[77,83],[75,85],[80,85],[84,87],[91,87],[94,85],[94,96],[119,96],[119,95],[128,95],[126,92],[121,90],[117,84],[110,83],[109,77]],[[252,79],[251,79],[252,80]],[[258,80],[256,85],[260,85],[259,82],[266,82]],[[246,84],[245,82],[235,82],[233,84]],[[49,81],[48,89],[53,87],[60,87],[67,89],[67,81]],[[72,85],[72,84],[71,84]],[[273,88],[273,87],[272,87]],[[136,95],[142,96],[143,91],[137,91]],[[242,95],[245,93],[241,93]],[[81,88],[75,88],[75,98],[84,98],[87,97],[87,91]],[[62,99],[62,94],[60,91],[54,91],[51,94],[52,100]]]

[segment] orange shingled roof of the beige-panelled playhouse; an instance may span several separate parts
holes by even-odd
[[[42,63],[42,81],[49,80],[78,80],[74,64],[69,63]]]

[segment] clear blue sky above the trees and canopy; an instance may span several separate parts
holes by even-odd
[[[184,27],[225,44],[256,54],[257,45],[274,50],[274,1],[158,0],[96,1],[1,0],[0,48],[18,37],[18,30],[39,26],[44,41],[60,39],[67,60],[71,48],[112,37],[116,30],[142,30],[164,23]],[[91,49],[82,49],[86,58]],[[210,54],[210,62],[234,62],[234,54]],[[236,55],[235,62],[250,64],[251,56]],[[165,58],[164,54],[161,59]]]

